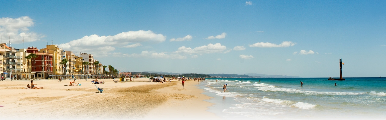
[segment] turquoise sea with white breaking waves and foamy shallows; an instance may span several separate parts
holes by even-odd
[[[213,97],[208,111],[228,120],[386,119],[386,78],[327,79],[207,78],[198,86]]]

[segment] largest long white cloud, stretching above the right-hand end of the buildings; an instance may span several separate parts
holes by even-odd
[[[73,52],[88,52],[93,55],[100,55],[100,51],[112,51],[110,50],[98,50],[101,47],[137,47],[142,45],[141,43],[160,43],[166,40],[166,36],[162,34],[156,34],[151,30],[144,31],[129,31],[118,33],[113,36],[98,36],[90,35],[83,38],[72,40],[68,43],[62,43],[58,45],[63,50],[71,50]],[[127,45],[129,43],[135,43]],[[106,56],[107,54],[102,54]]]

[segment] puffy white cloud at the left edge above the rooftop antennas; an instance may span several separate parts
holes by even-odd
[[[34,24],[34,21],[28,16],[19,18],[3,17],[0,18],[0,34],[3,39],[6,38],[4,40],[8,41],[9,39],[11,43],[23,43],[23,36],[25,41],[41,40],[45,37],[44,35],[29,30],[29,27],[34,26]]]

